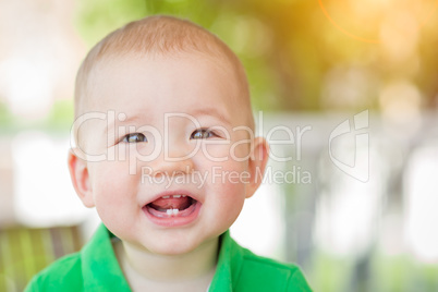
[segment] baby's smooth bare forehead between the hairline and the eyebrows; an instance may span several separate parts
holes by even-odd
[[[158,113],[180,112],[193,119],[197,113],[218,113],[211,115],[228,117],[224,120],[232,120],[233,126],[247,125],[239,115],[251,114],[248,96],[227,63],[198,53],[114,57],[90,72],[84,110],[141,115],[143,122]],[[156,118],[166,120],[161,115]]]

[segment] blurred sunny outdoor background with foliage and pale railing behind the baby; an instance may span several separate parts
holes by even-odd
[[[0,291],[98,224],[66,169],[75,73],[157,13],[247,70],[272,148],[232,227],[242,245],[297,263],[315,291],[438,291],[437,0],[0,0]]]

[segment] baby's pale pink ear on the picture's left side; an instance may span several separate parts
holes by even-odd
[[[69,170],[74,190],[82,203],[88,208],[94,207],[95,203],[93,199],[87,162],[78,158],[73,149],[69,151]]]

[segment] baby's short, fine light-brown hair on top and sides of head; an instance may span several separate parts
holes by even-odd
[[[166,56],[178,52],[196,52],[229,60],[241,83],[243,105],[248,109],[248,126],[254,129],[250,90],[244,68],[235,53],[216,35],[186,20],[155,15],[131,22],[110,33],[96,44],[83,61],[75,84],[75,118],[86,112],[90,73],[102,61],[134,56]]]

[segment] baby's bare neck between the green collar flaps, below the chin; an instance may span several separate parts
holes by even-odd
[[[183,255],[158,255],[114,243],[114,252],[133,291],[207,291],[215,275],[219,240]]]

